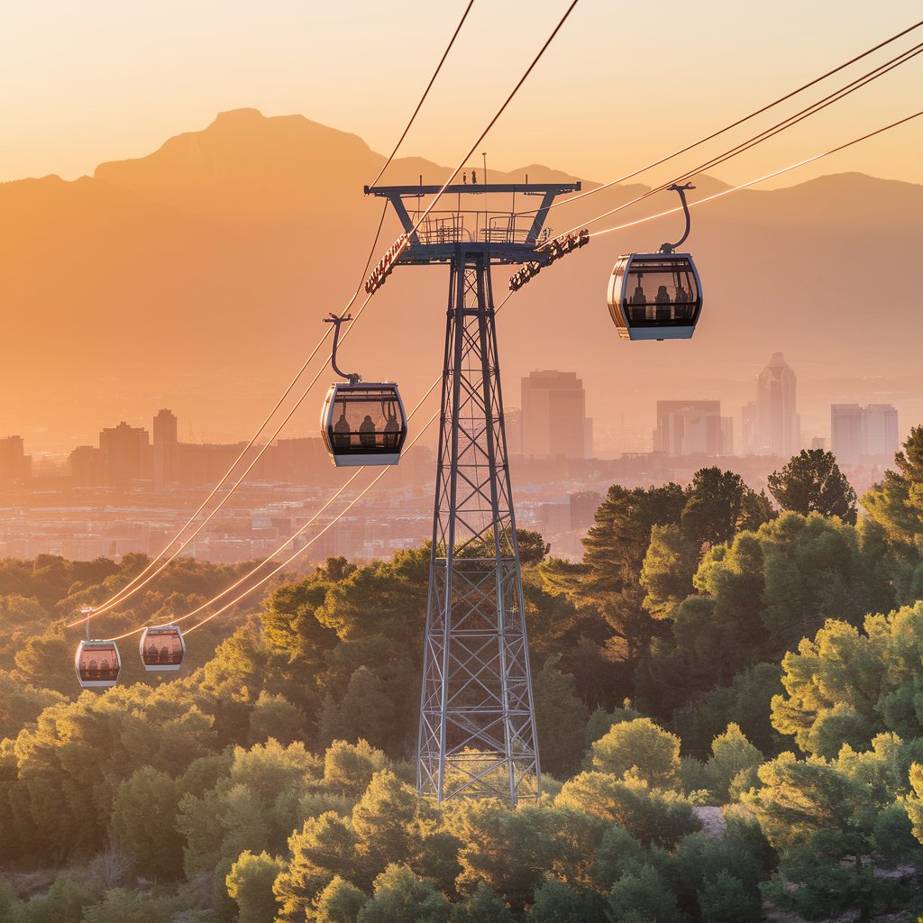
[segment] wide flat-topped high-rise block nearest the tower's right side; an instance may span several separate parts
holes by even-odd
[[[522,379],[522,452],[540,458],[593,457],[593,421],[576,372],[533,372]]]

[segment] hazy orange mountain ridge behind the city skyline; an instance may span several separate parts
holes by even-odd
[[[316,342],[320,318],[359,282],[380,216],[362,188],[383,162],[361,138],[303,116],[237,110],[146,157],[102,163],[91,178],[0,185],[0,435],[19,432],[28,443],[49,426],[63,442],[90,438],[114,416],[143,422],[152,402],[208,414],[216,438],[250,432]],[[381,182],[424,174],[435,183],[449,173],[398,158]],[[535,164],[488,169],[491,181],[525,174],[572,178]],[[697,182],[693,201],[724,186]],[[549,224],[560,233],[646,188],[605,190],[554,210]],[[591,231],[674,205],[653,197]],[[386,221],[378,251],[397,230]],[[680,231],[681,216],[669,216],[597,237],[517,296],[501,321],[507,401],[518,403],[519,375],[572,368],[598,420],[625,413],[629,426],[635,417],[644,426],[653,401],[682,394],[721,397],[736,414],[777,349],[802,378],[853,376],[857,395],[861,375],[916,368],[923,315],[911,268],[923,242],[923,186],[839,174],[694,210],[689,249],[706,292],[696,338],[618,342],[605,309],[614,256]],[[506,278],[495,271],[497,300]],[[412,402],[438,371],[445,284],[444,270],[395,273],[350,341],[354,365],[399,378]],[[549,336],[564,305],[579,323]],[[823,402],[855,399],[837,387],[803,410],[807,428],[817,428],[810,418],[822,419]],[[310,431],[313,408],[308,415],[295,427]]]

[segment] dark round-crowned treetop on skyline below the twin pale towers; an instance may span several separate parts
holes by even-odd
[[[807,516],[839,516],[856,524],[856,491],[846,480],[833,452],[802,449],[780,471],[769,475],[769,491],[782,509]]]

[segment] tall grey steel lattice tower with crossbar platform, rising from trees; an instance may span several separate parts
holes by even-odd
[[[544,198],[521,216],[521,228],[513,211],[458,210],[433,213],[414,230],[403,199],[438,188],[366,187],[390,198],[409,234],[399,265],[450,264],[417,789],[439,802],[500,797],[516,805],[540,796],[541,769],[490,267],[547,261],[535,249],[547,208],[558,193],[580,186],[450,186],[446,195],[459,200],[484,193]]]

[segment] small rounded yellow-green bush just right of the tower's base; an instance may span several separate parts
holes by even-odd
[[[676,788],[679,738],[650,718],[624,721],[593,744],[593,768],[618,777],[632,773],[653,787]]]

